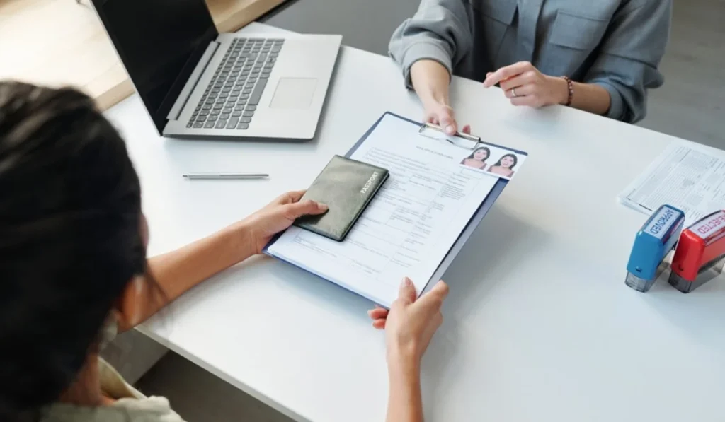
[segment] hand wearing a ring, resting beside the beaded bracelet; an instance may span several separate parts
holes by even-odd
[[[484,87],[500,84],[507,98],[514,106],[529,106],[538,109],[552,104],[566,104],[569,91],[566,80],[539,72],[529,62],[518,62],[489,72]]]

